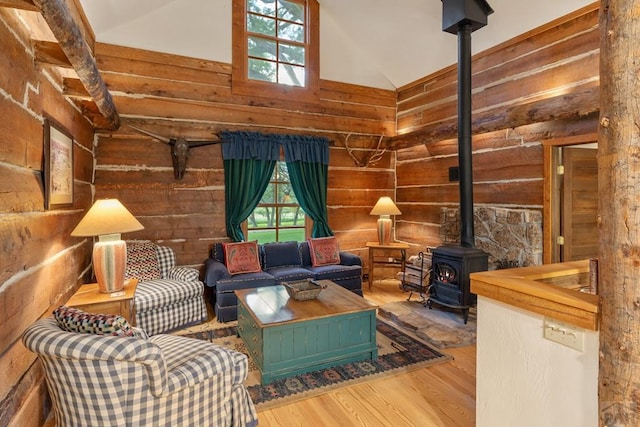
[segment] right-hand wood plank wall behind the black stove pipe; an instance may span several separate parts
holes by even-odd
[[[594,4],[475,55],[473,116],[597,87],[598,61],[598,7]],[[516,127],[505,120],[491,132],[474,132],[475,205],[542,210],[543,141],[593,133],[597,126],[595,114],[574,113],[572,119]],[[399,134],[433,124],[456,127],[455,65],[398,90]],[[474,127],[478,126],[481,123],[475,121]],[[402,145],[402,137],[394,139]],[[413,252],[441,243],[440,210],[459,204],[458,183],[449,181],[448,173],[458,165],[457,144],[457,139],[425,136],[420,145],[397,152],[396,191],[402,211],[396,218],[397,237],[415,245]]]

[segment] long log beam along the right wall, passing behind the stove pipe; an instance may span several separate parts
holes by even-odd
[[[600,88],[597,84],[579,91],[551,98],[521,103],[512,107],[497,107],[473,114],[474,135],[509,129],[551,120],[585,117],[600,109]],[[458,127],[454,119],[424,126],[413,132],[389,138],[390,149],[399,150],[416,145],[452,139]]]

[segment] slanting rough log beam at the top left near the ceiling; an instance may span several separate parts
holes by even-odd
[[[91,49],[87,45],[80,27],[71,16],[64,0],[33,0],[49,25],[60,48],[73,65],[82,84],[104,116],[107,129],[120,127],[120,117],[111,94],[98,71]],[[101,126],[102,127],[102,126]]]

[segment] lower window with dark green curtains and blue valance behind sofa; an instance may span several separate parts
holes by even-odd
[[[297,225],[294,212],[297,206],[304,211],[305,221],[313,221],[310,237],[333,235],[327,216],[328,139],[255,132],[222,132],[220,138],[224,143],[225,222],[227,235],[232,241],[245,240],[248,234],[246,221],[251,221],[252,215],[254,228],[260,228],[258,219],[262,221],[263,217],[267,220],[271,217],[271,225],[266,228],[276,234],[284,229],[300,228],[304,231],[302,224]],[[284,150],[286,167],[276,168],[280,148]],[[269,190],[271,184],[277,186]],[[269,211],[268,208],[280,209]],[[285,222],[292,213],[291,220],[295,226]],[[297,215],[299,218],[301,213],[298,211]],[[274,224],[279,226],[274,229]],[[302,234],[300,240],[305,235]]]

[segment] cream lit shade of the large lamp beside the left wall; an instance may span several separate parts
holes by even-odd
[[[118,199],[100,199],[91,206],[72,236],[128,233],[144,227]]]

